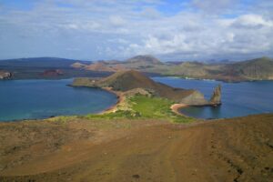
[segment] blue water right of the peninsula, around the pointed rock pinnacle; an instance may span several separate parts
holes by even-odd
[[[273,113],[273,82],[223,83],[218,81],[187,80],[176,77],[153,77],[169,86],[194,88],[210,98],[213,89],[222,85],[222,105],[218,107],[191,106],[181,109],[183,114],[198,118],[223,118]]]

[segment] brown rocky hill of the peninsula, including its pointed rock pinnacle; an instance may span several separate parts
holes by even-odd
[[[135,70],[116,72],[101,79],[76,78],[72,86],[111,87],[114,91],[126,92],[135,88],[144,88],[155,96],[165,97],[177,103],[191,106],[219,105],[221,92],[218,86],[210,101],[197,90],[173,88],[153,81]]]

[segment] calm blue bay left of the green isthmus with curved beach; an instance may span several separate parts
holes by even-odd
[[[97,113],[115,105],[101,89],[71,87],[72,79],[0,81],[0,121]]]

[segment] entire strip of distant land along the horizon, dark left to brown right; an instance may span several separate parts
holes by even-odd
[[[213,79],[225,82],[273,80],[273,59],[269,57],[238,62],[202,63],[196,61],[162,62],[154,56],[134,56],[125,61],[96,62],[55,57],[0,60],[0,74],[10,73],[10,76],[1,76],[0,79],[104,77],[130,69],[146,74],[179,76],[186,79]]]

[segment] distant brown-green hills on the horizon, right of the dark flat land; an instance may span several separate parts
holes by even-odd
[[[72,66],[78,68],[77,63]],[[214,79],[225,82],[273,80],[273,59],[268,57],[227,63],[180,62],[177,64],[177,62],[161,62],[154,56],[135,56],[123,62],[99,61],[86,66],[81,65],[80,68],[108,72],[136,69],[164,76]]]

